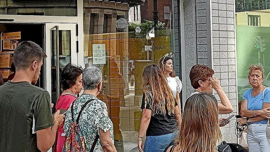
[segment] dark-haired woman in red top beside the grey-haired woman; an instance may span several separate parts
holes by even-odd
[[[77,95],[83,89],[83,69],[72,64],[67,64],[60,75],[60,82],[64,92],[60,95],[56,103],[56,111],[60,109],[68,109],[73,101],[77,99]],[[54,152],[61,152],[65,142],[63,122],[57,130],[56,146]]]

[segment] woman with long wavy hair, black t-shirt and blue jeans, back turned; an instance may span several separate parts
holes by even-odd
[[[140,152],[164,152],[174,140],[180,120],[179,107],[165,77],[156,64],[145,67],[143,76],[143,110],[138,135]],[[143,146],[142,139],[146,132]]]

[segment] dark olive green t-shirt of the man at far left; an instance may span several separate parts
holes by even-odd
[[[36,131],[53,126],[50,95],[29,82],[0,86],[0,152],[36,152]]]

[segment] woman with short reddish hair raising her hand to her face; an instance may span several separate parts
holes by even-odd
[[[214,88],[221,100],[221,103],[218,102],[218,113],[229,114],[233,112],[232,104],[230,103],[230,100],[228,99],[225,92],[223,91],[218,78],[213,77],[213,74],[214,70],[210,69],[206,65],[194,65],[190,70],[189,78],[191,81],[191,86],[195,90],[191,93],[190,96],[199,92],[209,92],[211,94],[212,88]]]

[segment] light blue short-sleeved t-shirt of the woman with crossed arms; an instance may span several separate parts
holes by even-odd
[[[266,88],[264,91],[264,99],[263,99],[263,91],[257,95],[257,96],[252,96],[252,88],[245,91],[243,94],[243,100],[248,101],[248,110],[261,110],[263,109],[263,104],[264,103],[270,103],[270,88]],[[255,123],[262,123],[266,124],[267,119],[264,119],[262,121],[258,121]]]

